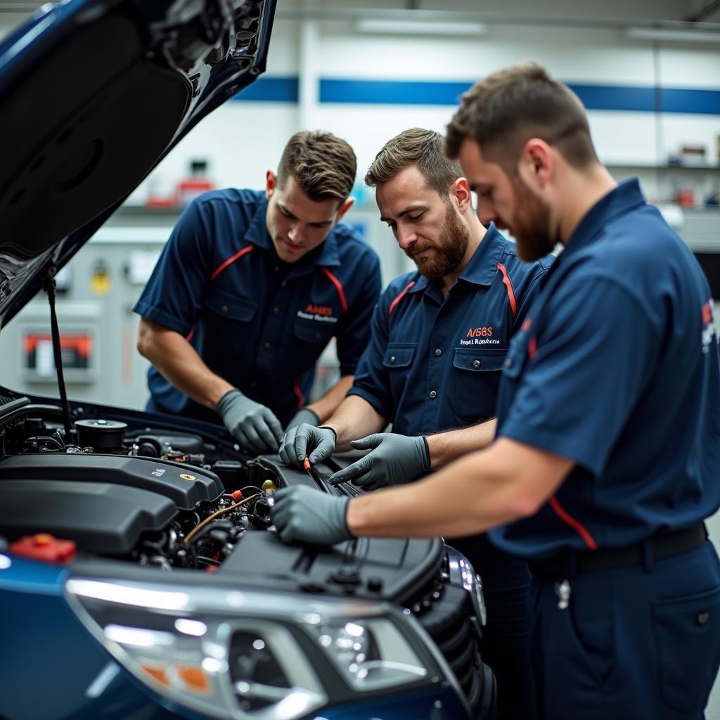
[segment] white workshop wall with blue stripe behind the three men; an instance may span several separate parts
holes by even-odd
[[[714,45],[670,47],[631,42],[618,30],[539,32],[510,25],[492,26],[477,39],[374,36],[359,35],[351,22],[287,20],[276,22],[266,75],[248,91],[258,99],[217,110],[153,179],[174,181],[192,157],[203,155],[217,184],[257,186],[284,139],[300,127],[324,127],[346,138],[364,171],[396,132],[412,125],[443,130],[465,86],[526,58],[575,86],[588,104],[600,157],[636,168],[652,199],[671,199],[678,182],[695,184],[698,202],[711,189],[716,176],[688,180],[675,171],[680,176],[668,179],[655,166],[665,166],[683,145],[700,145],[705,161],[718,163],[720,53]],[[667,112],[654,112],[656,89],[665,91],[660,101]],[[246,142],[248,132],[253,143]],[[135,197],[143,192],[147,187]]]

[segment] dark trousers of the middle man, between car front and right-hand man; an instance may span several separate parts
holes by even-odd
[[[448,544],[469,559],[482,580],[487,626],[480,653],[498,681],[498,720],[534,720],[528,566],[492,546],[485,534]]]

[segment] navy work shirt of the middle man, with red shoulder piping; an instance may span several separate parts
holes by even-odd
[[[367,400],[403,435],[494,417],[508,341],[551,261],[523,263],[490,225],[445,297],[418,271],[393,280],[348,395]]]

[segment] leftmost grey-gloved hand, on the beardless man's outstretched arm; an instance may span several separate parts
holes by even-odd
[[[228,390],[217,403],[217,412],[230,434],[253,452],[275,452],[282,440],[282,425],[272,410],[243,395]]]

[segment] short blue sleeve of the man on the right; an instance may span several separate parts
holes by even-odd
[[[498,435],[597,477],[647,387],[660,333],[630,289],[597,276],[559,287],[533,322],[517,338],[527,356]]]

